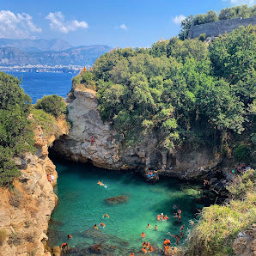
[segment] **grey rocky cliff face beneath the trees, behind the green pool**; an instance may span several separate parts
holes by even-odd
[[[187,180],[203,179],[221,162],[219,155],[208,149],[180,149],[172,153],[160,150],[154,134],[146,135],[143,143],[128,146],[125,134],[118,135],[110,123],[102,122],[94,90],[73,88],[70,99],[68,118],[72,127],[69,135],[60,137],[53,147],[67,159],[109,169],[150,166],[161,174]]]

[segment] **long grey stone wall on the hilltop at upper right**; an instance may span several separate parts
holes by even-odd
[[[230,19],[225,21],[216,21],[211,23],[206,23],[202,25],[192,26],[188,38],[197,38],[200,34],[206,34],[207,37],[218,36],[219,34],[224,34],[225,32],[230,33],[235,28],[240,26],[248,26],[249,24],[256,25],[256,16],[248,19]]]

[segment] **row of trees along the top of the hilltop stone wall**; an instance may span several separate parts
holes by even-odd
[[[250,18],[256,15],[256,5],[248,7],[247,4],[235,6],[231,8],[222,9],[217,15],[215,11],[210,10],[205,15],[189,15],[185,20],[181,21],[182,27],[179,37],[180,40],[186,40],[190,27],[193,25],[200,25],[215,21],[223,21],[235,18]]]

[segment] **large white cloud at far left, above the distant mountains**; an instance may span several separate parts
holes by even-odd
[[[15,15],[9,10],[0,10],[0,38],[33,38],[31,33],[40,33],[42,29],[36,27],[32,19],[26,13]]]

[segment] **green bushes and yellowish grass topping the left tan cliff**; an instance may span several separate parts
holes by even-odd
[[[55,118],[66,113],[64,100],[57,95],[45,96],[33,108],[20,83],[18,78],[0,72],[0,186],[10,186],[20,175],[14,157],[34,152],[35,126],[40,125],[46,136],[56,134]]]

